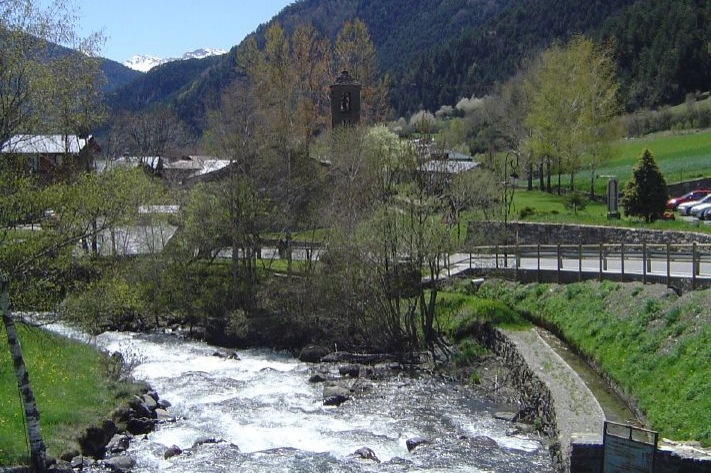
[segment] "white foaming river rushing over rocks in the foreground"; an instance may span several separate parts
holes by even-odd
[[[169,401],[176,422],[131,442],[133,471],[194,472],[553,472],[541,439],[508,435],[495,406],[465,386],[405,372],[368,382],[338,407],[323,405],[319,367],[266,350],[239,360],[170,334],[105,333],[135,378]],[[321,365],[338,376],[337,365]],[[204,438],[219,440],[193,448]],[[408,452],[406,441],[430,443]],[[492,442],[493,440],[494,442]],[[183,450],[164,459],[168,447]],[[380,462],[352,454],[372,449]]]

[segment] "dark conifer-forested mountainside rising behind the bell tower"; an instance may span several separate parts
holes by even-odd
[[[711,84],[711,4],[704,0],[301,0],[273,21],[310,23],[333,41],[360,18],[390,78],[394,116],[482,96],[555,41],[607,41],[629,110],[680,102]],[[265,27],[255,33],[261,41]],[[236,77],[224,56],[166,64],[120,89],[112,108],[168,103],[196,131]],[[334,72],[335,74],[335,72]]]

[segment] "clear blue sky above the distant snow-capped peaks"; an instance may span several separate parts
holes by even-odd
[[[49,0],[41,0],[49,4]],[[179,57],[198,48],[228,50],[294,0],[67,0],[82,36],[102,32],[101,56]]]

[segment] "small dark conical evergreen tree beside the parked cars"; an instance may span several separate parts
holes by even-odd
[[[662,172],[649,149],[645,149],[632,168],[632,178],[622,191],[620,204],[626,216],[642,217],[650,223],[662,216],[669,193]]]

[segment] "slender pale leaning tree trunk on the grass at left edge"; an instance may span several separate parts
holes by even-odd
[[[0,306],[2,308],[2,321],[5,325],[5,331],[7,332],[7,343],[10,347],[10,355],[12,356],[12,364],[15,367],[17,387],[20,390],[22,407],[25,412],[27,438],[30,444],[30,472],[44,473],[47,471],[47,458],[44,441],[42,440],[42,432],[40,431],[39,410],[37,410],[35,396],[30,386],[30,376],[25,368],[22,347],[17,339],[15,322],[10,316],[10,299],[7,286],[7,281],[0,282],[0,290],[2,291]]]

